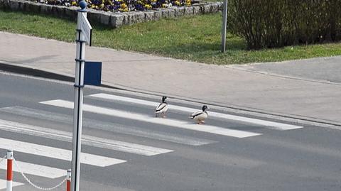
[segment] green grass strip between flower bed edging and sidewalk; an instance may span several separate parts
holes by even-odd
[[[245,40],[227,36],[227,52],[220,53],[221,13],[173,18],[112,29],[94,28],[92,44],[183,60],[229,65],[341,55],[341,43],[246,50]],[[75,41],[76,23],[21,12],[0,11],[0,31]]]

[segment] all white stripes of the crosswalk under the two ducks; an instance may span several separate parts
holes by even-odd
[[[157,102],[150,102],[142,99],[121,97],[111,94],[92,94],[86,98],[99,99],[97,102],[125,102],[148,107],[156,107]],[[93,100],[96,101],[96,100]],[[55,99],[46,102],[40,102],[39,107],[61,107],[66,109],[73,109],[73,102]],[[185,111],[191,113],[197,109],[180,107],[170,105],[170,111]],[[47,111],[48,109],[33,109],[28,107],[5,107],[0,108],[0,112],[6,114],[13,114],[16,116],[30,117],[36,120],[48,120],[58,123],[72,124],[72,116],[66,114],[60,114],[54,111]],[[214,140],[208,140],[206,138],[198,138],[195,136],[186,136],[183,134],[170,133],[169,131],[163,131],[169,128],[180,128],[187,131],[200,131],[202,133],[210,133],[218,136],[228,136],[234,138],[248,138],[252,136],[261,136],[261,133],[242,131],[237,129],[228,129],[224,126],[212,126],[212,125],[200,125],[190,123],[188,121],[182,121],[178,119],[160,119],[146,114],[134,113],[131,111],[123,111],[119,109],[113,109],[110,107],[99,107],[93,104],[84,104],[83,110],[96,114],[102,114],[105,116],[114,116],[121,119],[129,119],[131,121],[142,121],[146,124],[158,125],[162,128],[160,130],[144,129],[139,126],[126,126],[125,124],[113,124],[112,122],[99,121],[94,119],[83,119],[83,125],[91,129],[99,129],[104,131],[112,131],[116,133],[124,133],[129,136],[139,136],[142,138],[148,138],[151,140],[167,141],[171,143],[178,143],[187,146],[202,146],[210,143],[217,143]],[[293,126],[291,124],[282,124],[273,121],[264,121],[259,119],[251,119],[243,116],[233,116],[229,114],[221,114],[217,112],[210,112],[210,116],[217,119],[243,121],[250,124],[257,124],[260,126],[271,126],[271,129],[275,130],[293,130],[300,129],[302,126]],[[68,131],[61,131],[57,129],[51,129],[47,126],[35,126],[31,124],[23,124],[18,121],[10,121],[8,119],[0,119],[0,131],[8,131],[11,133],[20,133],[29,136],[37,136],[41,138],[48,138],[56,141],[71,142],[72,133]],[[156,146],[148,145],[146,143],[129,143],[126,141],[117,141],[109,138],[101,138],[96,136],[83,135],[82,144],[86,146],[104,148],[112,151],[119,151],[124,153],[132,153],[136,155],[145,155],[151,157],[153,155],[161,155],[171,152],[176,152],[172,148],[159,148]],[[54,158],[57,160],[70,161],[71,151],[65,148],[58,148],[54,146],[43,146],[37,143],[28,143],[25,141],[12,140],[9,138],[0,137],[0,148],[4,151],[6,149],[13,149],[14,152],[26,153],[28,155],[38,155],[45,158]],[[91,153],[82,153],[81,163],[97,166],[107,167],[109,165],[117,165],[126,163],[125,158],[111,158],[104,155],[94,155]],[[51,166],[39,165],[38,163],[27,163],[17,161],[18,165],[23,170],[23,173],[36,175],[45,178],[60,178],[65,175],[66,168],[55,168]],[[0,163],[0,169],[6,170],[5,160]],[[0,170],[0,172],[1,172]],[[18,172],[18,169],[13,168],[13,171]],[[13,182],[13,186],[23,185],[21,182]],[[6,187],[6,180],[0,179],[0,190]]]

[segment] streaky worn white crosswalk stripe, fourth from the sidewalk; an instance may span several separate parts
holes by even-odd
[[[55,129],[48,129],[40,126],[31,126],[27,124],[20,124],[13,121],[5,121],[0,119],[0,129],[4,131],[11,131],[15,133],[23,133],[31,136],[40,136],[44,138],[51,138],[58,141],[72,142],[72,133],[67,131],[60,131]],[[127,153],[134,153],[139,155],[158,155],[162,153],[169,153],[173,150],[164,148],[157,148],[152,146],[144,146],[136,143],[128,143],[124,141],[115,141],[106,138],[99,138],[94,136],[82,136],[82,144],[87,146],[95,146],[99,148],[108,148],[115,151],[122,151]]]

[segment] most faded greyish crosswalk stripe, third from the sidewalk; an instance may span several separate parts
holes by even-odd
[[[38,119],[58,121],[67,124],[72,124],[72,116],[65,114],[58,114],[50,111],[43,111],[39,109],[32,109],[27,107],[4,107],[0,108],[0,111],[4,111],[10,114],[16,114],[21,116],[28,116]],[[190,146],[202,146],[210,143],[216,143],[217,141],[207,140],[203,138],[195,138],[190,136],[178,135],[175,133],[159,132],[151,129],[142,129],[135,126],[124,126],[122,124],[106,123],[104,121],[98,121],[94,119],[83,118],[83,126],[90,127],[92,129],[100,129],[105,131],[112,131],[117,133],[124,133],[133,136],[141,136],[145,138],[152,138],[161,141],[168,141],[172,143],[180,143]]]

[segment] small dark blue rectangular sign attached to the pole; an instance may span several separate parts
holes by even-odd
[[[102,80],[102,62],[85,62],[84,84],[100,85]]]

